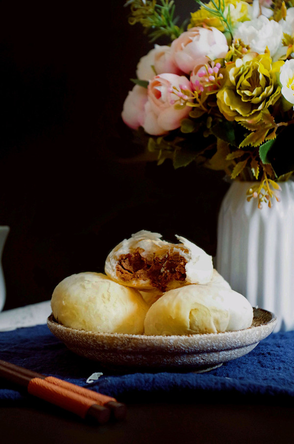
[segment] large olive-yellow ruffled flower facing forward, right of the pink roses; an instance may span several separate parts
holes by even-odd
[[[221,113],[229,121],[242,121],[273,105],[281,96],[276,73],[283,61],[272,63],[270,53],[249,53],[227,65],[217,94]]]

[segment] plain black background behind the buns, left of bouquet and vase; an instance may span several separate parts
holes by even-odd
[[[216,254],[223,174],[133,157],[121,111],[153,44],[123,4],[0,2],[4,309],[50,299],[70,274],[103,271],[110,249],[141,229]],[[196,8],[176,5],[182,19]]]

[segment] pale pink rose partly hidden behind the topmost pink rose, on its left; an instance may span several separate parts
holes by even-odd
[[[136,74],[140,80],[150,80],[154,75],[163,73],[182,74],[173,60],[171,47],[155,45],[141,57]]]

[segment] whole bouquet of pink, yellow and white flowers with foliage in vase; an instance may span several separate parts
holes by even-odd
[[[271,207],[294,171],[294,7],[291,1],[196,0],[177,25],[174,1],[129,0],[129,23],[151,41],[123,105],[158,163],[191,162],[254,181],[247,200]]]

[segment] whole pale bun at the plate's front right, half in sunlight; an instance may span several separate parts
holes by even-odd
[[[253,309],[239,293],[220,285],[186,285],[166,292],[149,308],[146,335],[189,335],[250,327]]]

